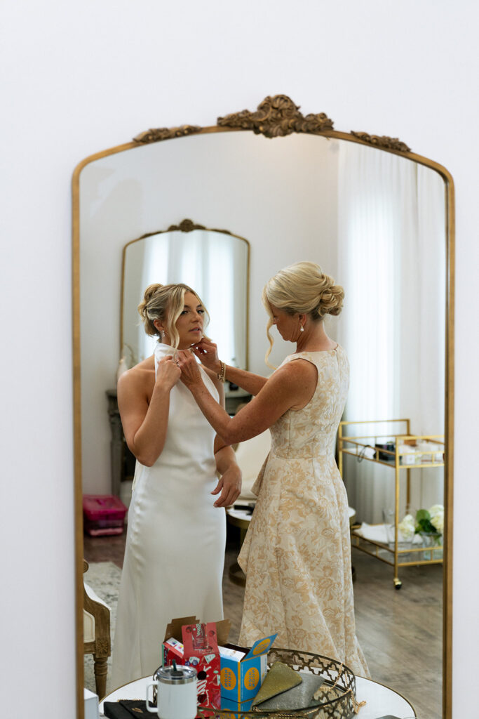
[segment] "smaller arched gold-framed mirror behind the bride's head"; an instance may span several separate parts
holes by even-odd
[[[189,219],[144,234],[125,245],[121,282],[120,358],[133,367],[154,351],[137,306],[148,285],[185,283],[195,288],[211,313],[207,334],[220,338],[228,365],[248,367],[249,244],[223,229]],[[214,312],[212,309],[214,308]]]

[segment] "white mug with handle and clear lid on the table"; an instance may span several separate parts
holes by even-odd
[[[197,677],[192,667],[159,667],[147,684],[147,710],[159,719],[195,719]],[[157,706],[149,707],[149,687],[157,689]]]

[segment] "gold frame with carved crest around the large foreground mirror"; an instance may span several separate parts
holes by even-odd
[[[80,406],[80,173],[90,162],[108,155],[132,150],[152,142],[179,139],[190,134],[250,131],[265,137],[284,137],[294,132],[333,137],[348,142],[376,147],[383,152],[406,157],[439,173],[445,182],[446,237],[446,307],[445,307],[445,546],[443,561],[442,607],[442,716],[452,718],[452,508],[454,462],[454,270],[455,270],[455,206],[454,183],[442,165],[416,155],[397,138],[371,135],[366,132],[338,132],[325,113],[303,115],[299,106],[286,95],[266,97],[254,112],[243,110],[218,118],[216,125],[149,129],[131,142],[111,147],[86,157],[73,173],[73,431],[75,447],[75,621],[77,664],[77,718],[84,717],[83,703],[83,509],[81,473],[81,406]]]

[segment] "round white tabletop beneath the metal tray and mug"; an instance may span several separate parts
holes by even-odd
[[[103,697],[100,702],[100,716],[103,715],[103,702],[117,702],[120,699],[142,699],[144,700],[147,692],[147,684],[152,681],[152,677],[144,677],[137,679],[136,682],[130,682],[123,687],[111,692],[111,694]],[[378,719],[385,715],[392,715],[398,719],[405,717],[414,717],[414,708],[400,694],[394,692],[383,684],[373,682],[372,679],[363,679],[356,677],[356,699],[358,702],[366,702],[361,707],[358,719]],[[154,717],[154,714],[152,714]]]

